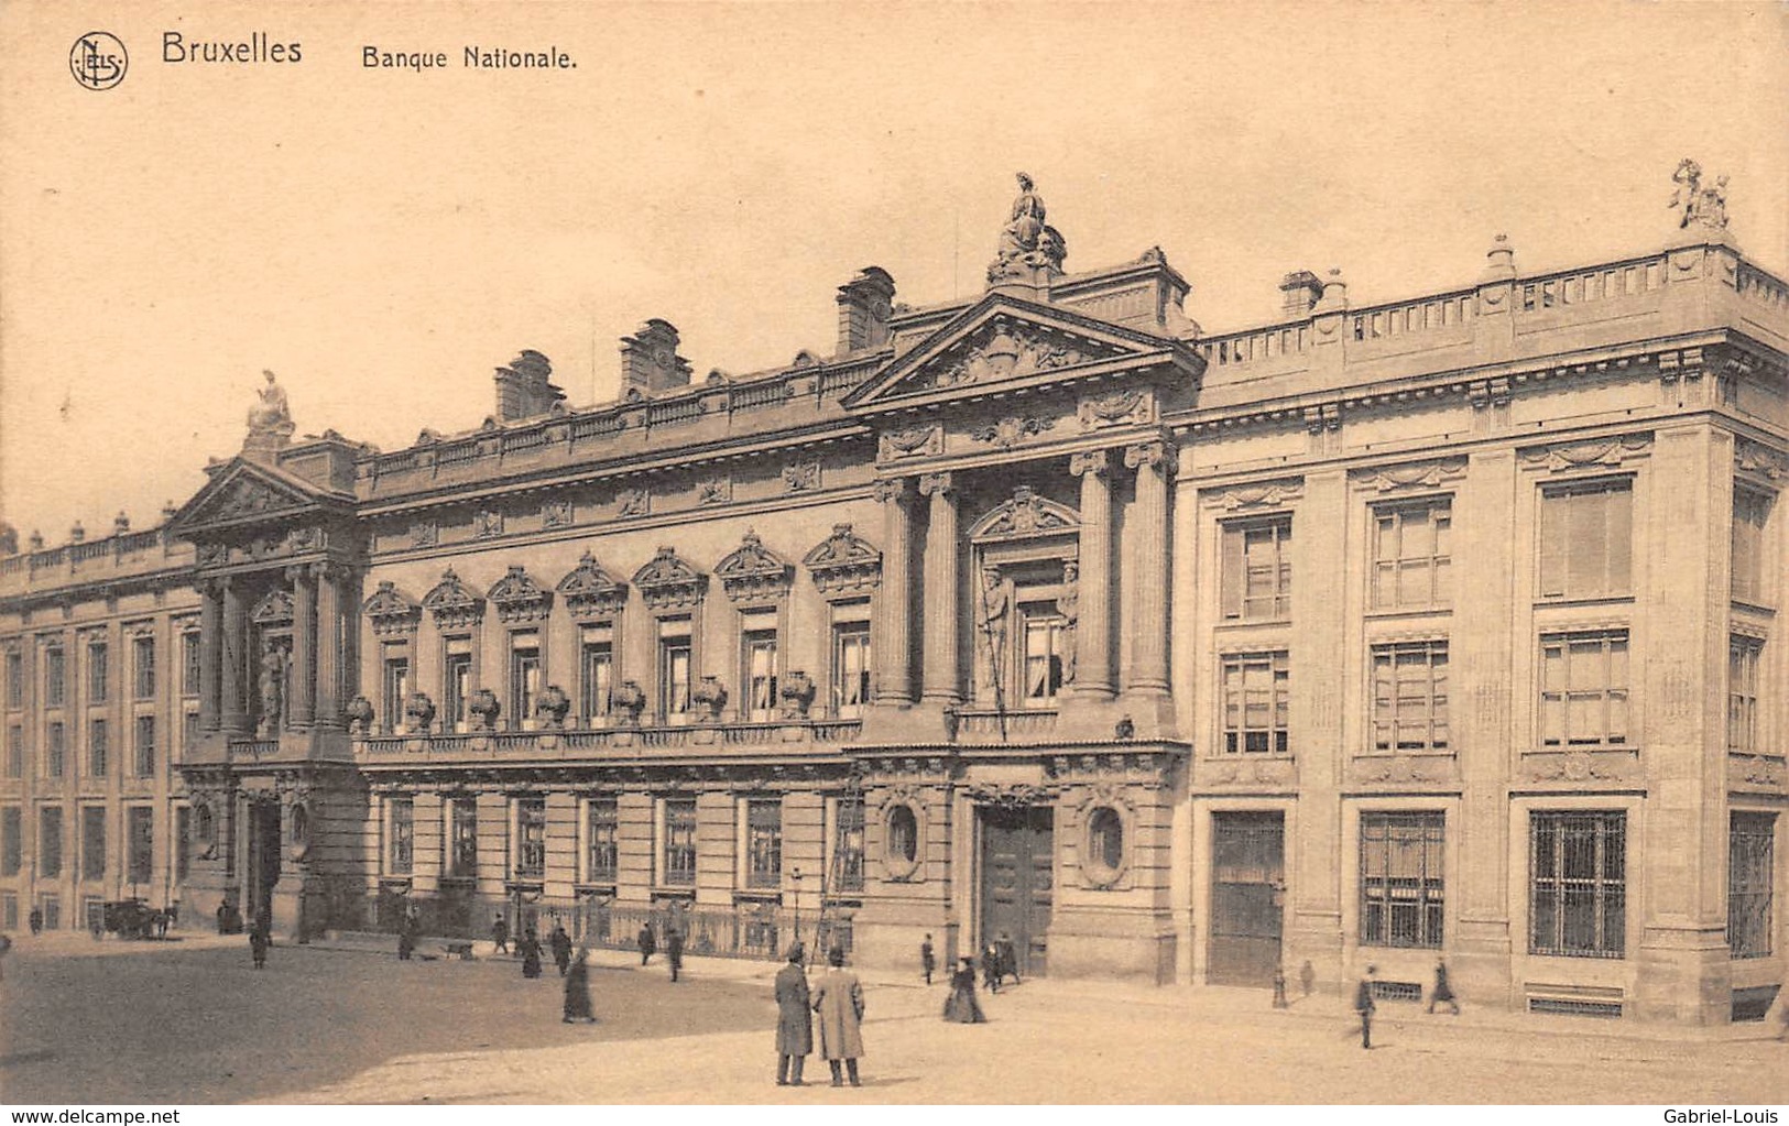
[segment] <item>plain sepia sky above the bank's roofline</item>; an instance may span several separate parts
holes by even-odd
[[[159,520],[272,368],[301,433],[476,427],[538,349],[574,406],[662,316],[701,379],[830,352],[866,265],[980,290],[1027,170],[1068,270],[1161,245],[1208,331],[1288,270],[1356,304],[1658,248],[1683,155],[1789,270],[1769,4],[0,5],[0,520]],[[109,30],[109,91],[68,68]],[[161,39],[302,45],[168,64]],[[445,70],[361,66],[444,50]],[[481,71],[469,45],[576,70]]]

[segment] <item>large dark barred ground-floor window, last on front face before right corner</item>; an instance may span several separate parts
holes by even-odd
[[[1535,811],[1528,822],[1528,953],[1621,958],[1628,933],[1628,815]]]

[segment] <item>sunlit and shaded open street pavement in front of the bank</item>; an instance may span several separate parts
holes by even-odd
[[[435,947],[424,944],[426,953]],[[481,954],[488,944],[479,944]],[[5,1103],[1789,1103],[1775,1024],[1685,1035],[1385,1003],[1374,1049],[1338,997],[1032,979],[939,1019],[946,988],[864,974],[862,1088],[776,1087],[773,963],[673,985],[592,953],[598,1024],[560,1022],[551,963],[397,962],[377,945],[20,938],[0,985]]]

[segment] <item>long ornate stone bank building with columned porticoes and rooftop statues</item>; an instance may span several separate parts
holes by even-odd
[[[1680,1024],[1784,979],[1789,286],[1669,239],[1200,334],[1159,250],[837,291],[830,356],[522,352],[476,431],[243,450],[0,561],[5,926],[483,935]],[[1664,227],[1664,225],[1662,225]],[[1666,234],[1664,231],[1660,232]],[[816,928],[825,933],[816,937]]]

